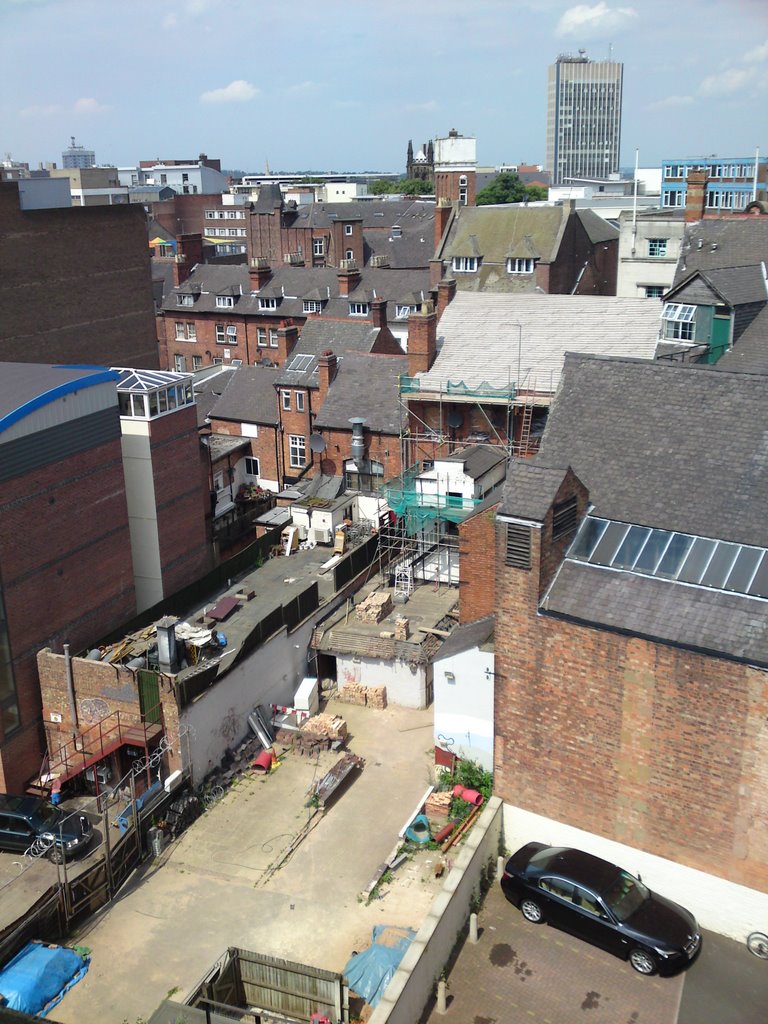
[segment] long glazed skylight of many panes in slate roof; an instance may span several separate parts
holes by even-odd
[[[567,557],[590,565],[768,598],[768,550],[587,516]]]

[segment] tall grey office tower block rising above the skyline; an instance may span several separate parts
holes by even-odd
[[[549,68],[547,170],[552,184],[618,170],[624,65],[562,53]]]

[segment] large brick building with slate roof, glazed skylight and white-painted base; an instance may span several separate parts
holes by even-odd
[[[497,527],[508,842],[630,863],[731,935],[768,912],[765,431],[762,377],[570,354]]]

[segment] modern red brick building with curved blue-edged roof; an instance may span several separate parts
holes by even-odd
[[[136,610],[117,374],[6,362],[0,374],[0,790],[44,740],[35,657]]]

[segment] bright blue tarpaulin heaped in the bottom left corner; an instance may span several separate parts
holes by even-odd
[[[74,949],[29,942],[0,971],[0,994],[8,1009],[45,1017],[87,970],[88,958]]]

